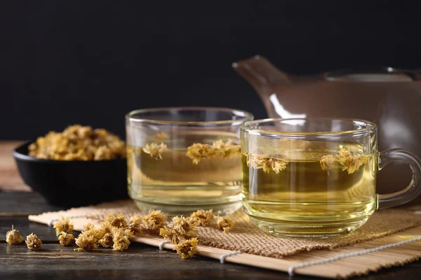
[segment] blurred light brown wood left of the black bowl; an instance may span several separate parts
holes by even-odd
[[[0,142],[0,191],[32,191],[20,178],[12,151],[22,141]]]

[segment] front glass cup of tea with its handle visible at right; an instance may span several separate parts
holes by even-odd
[[[261,230],[286,237],[331,237],[361,227],[376,209],[421,193],[421,162],[400,148],[377,151],[366,120],[294,118],[241,125],[243,210]],[[403,190],[377,195],[376,175],[401,160],[413,171]]]

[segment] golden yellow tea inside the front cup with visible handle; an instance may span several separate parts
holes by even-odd
[[[351,174],[335,162],[339,148],[279,156],[285,165],[278,173],[253,167],[250,156],[243,154],[243,209],[259,228],[275,235],[326,237],[356,230],[377,208],[376,165],[373,155],[361,155],[356,146],[347,148],[354,153],[345,165],[365,161],[356,170],[349,166]],[[332,156],[328,170],[321,165],[323,155]]]

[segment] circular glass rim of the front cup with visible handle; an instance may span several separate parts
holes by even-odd
[[[288,120],[305,120],[305,121],[312,121],[312,120],[339,120],[339,121],[349,121],[349,122],[359,122],[363,123],[364,125],[368,125],[368,127],[361,128],[360,130],[338,130],[338,131],[329,131],[329,132],[280,132],[276,130],[260,130],[258,128],[250,128],[248,125],[253,124],[260,124],[260,123],[269,123],[269,122],[282,122]],[[334,135],[343,135],[343,134],[354,134],[354,133],[361,133],[361,132],[373,132],[377,129],[377,125],[373,122],[368,120],[361,120],[358,118],[265,118],[260,120],[249,120],[240,125],[240,130],[248,132],[248,133],[262,133],[262,134],[279,134],[279,135],[326,135],[326,134],[334,134]]]

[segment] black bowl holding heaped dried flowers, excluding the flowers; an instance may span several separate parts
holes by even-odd
[[[28,155],[30,141],[13,151],[23,181],[54,205],[77,207],[128,198],[127,163],[119,160],[43,160]]]

